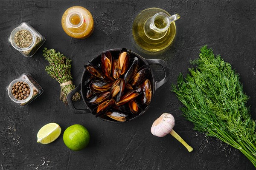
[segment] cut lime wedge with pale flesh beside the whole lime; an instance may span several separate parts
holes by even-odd
[[[48,123],[38,131],[37,142],[41,144],[49,144],[55,141],[60,134],[61,127],[57,123]]]

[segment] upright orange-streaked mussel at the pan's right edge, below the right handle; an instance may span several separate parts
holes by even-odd
[[[152,98],[152,91],[151,91],[151,84],[149,79],[146,79],[142,84],[142,97],[141,97],[141,103],[144,105],[148,105],[151,102]]]

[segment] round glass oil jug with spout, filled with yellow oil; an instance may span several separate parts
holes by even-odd
[[[179,14],[170,15],[160,8],[148,8],[134,20],[132,34],[137,44],[147,51],[160,51],[168,47],[176,34],[175,22]]]

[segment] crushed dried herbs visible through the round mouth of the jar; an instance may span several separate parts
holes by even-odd
[[[21,29],[15,33],[14,42],[20,48],[28,48],[33,42],[33,35],[26,29]]]

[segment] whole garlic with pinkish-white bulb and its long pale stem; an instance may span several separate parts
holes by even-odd
[[[171,134],[181,144],[183,144],[189,152],[192,152],[193,148],[189,146],[172,128],[175,125],[174,117],[169,113],[163,113],[158,119],[156,119],[151,127],[151,133],[154,136],[163,137],[167,134]]]

